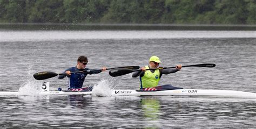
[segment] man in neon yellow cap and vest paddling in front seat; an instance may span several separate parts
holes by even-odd
[[[181,69],[181,64],[178,64],[176,68],[172,69],[156,69],[156,70],[146,70],[158,68],[161,63],[157,56],[151,56],[149,60],[149,66],[140,68],[141,71],[137,71],[132,74],[132,77],[138,77],[140,80],[140,90],[143,88],[153,88],[158,86],[158,82],[163,74],[176,73]]]

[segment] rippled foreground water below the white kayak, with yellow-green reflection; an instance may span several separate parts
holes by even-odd
[[[255,100],[237,98],[20,96],[0,103],[7,127],[254,127],[256,117]]]

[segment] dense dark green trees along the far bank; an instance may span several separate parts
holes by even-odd
[[[255,0],[0,0],[0,23],[255,24]]]

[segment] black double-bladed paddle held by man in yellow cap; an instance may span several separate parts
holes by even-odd
[[[193,65],[188,65],[188,66],[183,66],[183,67],[215,67],[216,65],[214,63],[203,63],[203,64],[193,64]],[[146,70],[156,70],[156,69],[168,69],[168,68],[176,68],[176,67],[160,67],[160,68],[153,68],[153,69],[146,69]],[[134,71],[140,71],[140,69],[137,70],[132,70],[132,69],[126,69],[126,68],[116,68],[113,70],[109,71],[109,75],[112,77],[116,76],[122,76],[125,74],[130,74]]]

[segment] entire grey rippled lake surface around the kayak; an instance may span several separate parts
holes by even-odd
[[[193,89],[256,92],[256,31],[0,31],[0,127],[138,127],[253,128],[256,100],[246,98],[146,96],[37,96],[39,71],[62,73],[89,58],[88,68],[145,66],[159,56],[160,66],[215,63],[163,75],[160,85]],[[50,78],[51,90],[67,80]],[[102,83],[107,82],[107,83]],[[139,88],[131,74],[88,75],[85,85]],[[103,90],[104,92],[104,90]],[[32,95],[31,95],[32,94]]]

